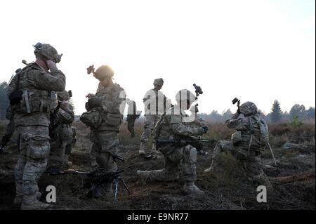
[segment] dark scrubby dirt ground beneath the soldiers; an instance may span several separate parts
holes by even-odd
[[[88,129],[76,123],[78,141],[70,160],[77,171],[89,171],[88,153],[91,143]],[[185,195],[181,190],[183,182],[143,183],[136,177],[137,170],[162,169],[162,157],[147,160],[138,156],[139,137],[142,121],[136,124],[136,138],[130,138],[126,124],[120,133],[120,153],[125,162],[118,162],[124,169],[122,178],[128,185],[128,193],[119,184],[118,199],[113,197],[90,199],[79,190],[85,175],[45,173],[39,180],[41,199],[45,199],[46,186],[54,185],[57,190],[55,209],[315,209],[315,125],[293,127],[289,124],[270,126],[270,143],[275,150],[275,166],[269,150],[263,152],[263,167],[275,189],[268,193],[268,203],[256,201],[256,187],[246,179],[240,164],[230,155],[223,154],[225,170],[214,174],[204,173],[211,160],[211,153],[217,140],[229,139],[231,130],[224,124],[209,124],[206,138],[211,139],[205,146],[207,154],[197,158],[197,186],[204,190],[203,197]],[[4,127],[0,129],[0,136]],[[13,205],[15,185],[13,169],[18,160],[18,150],[13,138],[7,147],[7,154],[0,156],[0,209],[19,209]],[[285,147],[284,144],[287,146]]]

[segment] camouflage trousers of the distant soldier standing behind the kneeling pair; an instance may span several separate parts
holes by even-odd
[[[140,150],[145,150],[146,154],[149,154],[150,151],[147,150],[147,143],[152,136],[152,130],[154,130],[154,125],[157,123],[159,115],[146,114],[145,115],[145,125],[142,136],[140,137]],[[152,145],[152,150],[156,150],[156,146]]]

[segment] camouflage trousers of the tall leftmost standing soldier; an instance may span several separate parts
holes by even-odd
[[[34,196],[32,203],[36,204],[37,181],[47,168],[50,151],[48,127],[17,126],[16,131],[20,134],[20,158],[14,171],[17,197],[23,197],[24,202],[25,196]]]

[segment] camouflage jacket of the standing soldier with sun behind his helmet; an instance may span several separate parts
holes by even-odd
[[[126,94],[124,88],[118,84],[113,84],[107,88],[99,85],[96,97],[102,98],[102,110],[100,110],[102,122],[98,131],[119,132],[125,108]]]

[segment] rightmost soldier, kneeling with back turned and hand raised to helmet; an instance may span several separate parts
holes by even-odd
[[[241,114],[244,116],[240,116]],[[236,132],[232,134],[232,140],[218,141],[211,166],[204,172],[211,173],[220,166],[221,152],[231,152],[239,162],[242,162],[249,180],[265,185],[272,191],[270,180],[261,165],[261,149],[268,143],[268,126],[261,119],[256,105],[251,102],[243,103],[232,118],[226,121],[226,125]]]

